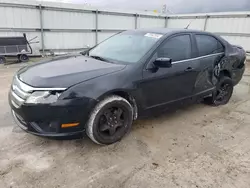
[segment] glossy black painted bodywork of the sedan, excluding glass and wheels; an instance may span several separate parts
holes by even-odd
[[[147,116],[157,109],[166,109],[172,104],[179,106],[185,100],[210,95],[219,79],[214,74],[215,67],[219,72],[228,74],[235,84],[244,72],[244,66],[232,69],[233,63],[245,61],[244,55],[238,57],[240,49],[210,33],[166,29],[128,32],[153,32],[163,34],[163,37],[136,64],[112,64],[73,55],[21,69],[17,76],[28,85],[68,88],[53,104],[24,104],[16,109],[10,102],[11,108],[26,122],[56,124],[56,128],[39,132],[28,123],[28,131],[42,136],[65,136],[67,133],[82,132],[93,107],[111,94],[127,97],[139,117]],[[155,68],[153,61],[157,48],[170,37],[184,33],[189,34],[192,39],[192,59],[185,63],[173,63],[171,68]],[[194,38],[196,33],[207,34],[221,41],[225,53],[198,58]],[[60,128],[61,124],[71,122],[81,124],[75,128]]]

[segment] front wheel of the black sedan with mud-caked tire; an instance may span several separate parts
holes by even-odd
[[[100,145],[121,140],[131,129],[133,108],[124,98],[112,95],[100,101],[86,125],[89,138]]]

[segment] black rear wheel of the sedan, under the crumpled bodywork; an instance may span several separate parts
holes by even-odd
[[[227,76],[220,78],[216,85],[216,91],[212,97],[205,98],[205,103],[212,106],[225,105],[229,102],[233,94],[233,81]]]

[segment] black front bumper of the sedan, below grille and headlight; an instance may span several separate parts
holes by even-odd
[[[15,122],[26,132],[44,137],[68,137],[84,132],[96,101],[90,98],[68,99],[53,104],[23,104],[16,108],[9,95],[9,104]],[[70,123],[79,125],[62,128],[62,124]]]

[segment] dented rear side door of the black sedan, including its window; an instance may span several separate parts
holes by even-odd
[[[216,80],[214,71],[216,65],[224,57],[223,44],[212,35],[195,34],[197,54],[200,60],[200,74],[195,84],[195,93],[206,92],[214,88]]]

